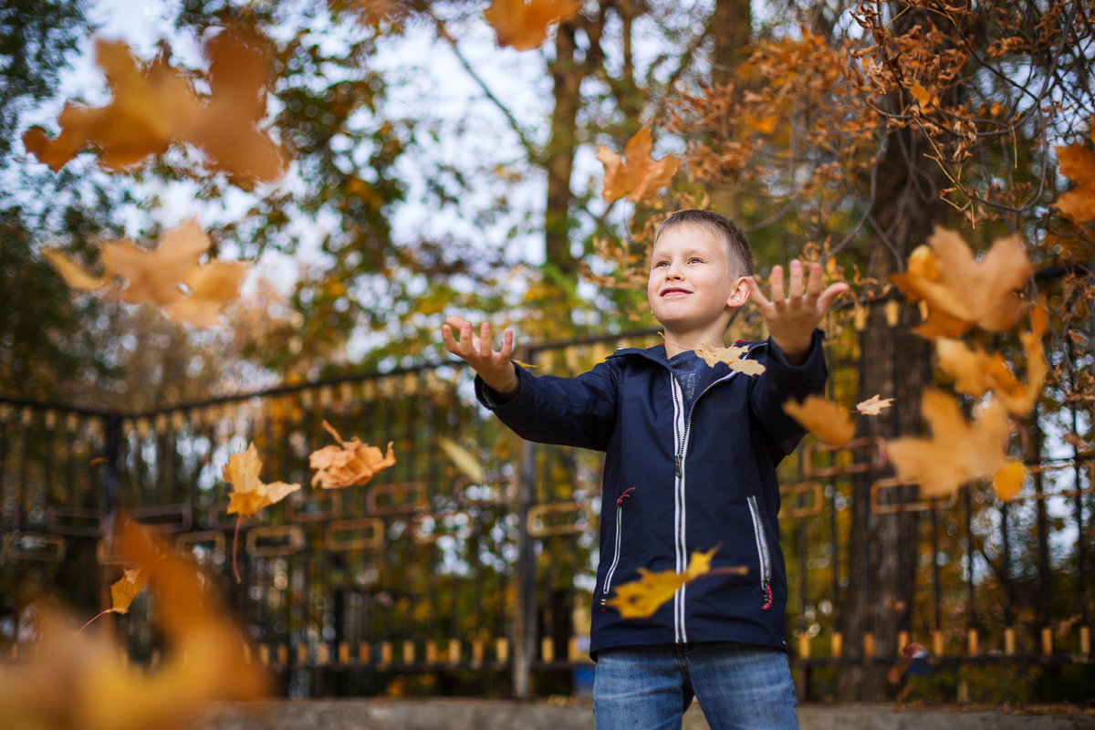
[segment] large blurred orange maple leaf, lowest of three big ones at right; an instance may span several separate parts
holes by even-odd
[[[1014,477],[1004,452],[1011,426],[1003,405],[991,401],[971,424],[958,403],[936,390],[924,392],[921,410],[932,434],[922,439],[903,437],[886,442],[886,454],[897,478],[920,484],[922,497],[942,497],[972,479],[1001,475],[1005,484]]]

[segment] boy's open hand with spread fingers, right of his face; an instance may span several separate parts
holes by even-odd
[[[848,291],[848,283],[838,281],[821,291],[821,264],[810,264],[809,280],[804,283],[803,265],[793,259],[788,266],[791,281],[784,292],[783,267],[772,269],[772,298],[761,292],[752,277],[746,279],[749,294],[764,316],[772,341],[791,364],[802,364],[810,349],[814,329],[837,298]]]

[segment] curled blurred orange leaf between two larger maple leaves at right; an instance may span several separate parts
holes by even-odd
[[[940,368],[955,379],[955,390],[959,393],[981,396],[992,391],[1008,413],[1026,415],[1034,408],[1049,375],[1041,343],[1047,326],[1046,306],[1040,302],[1030,311],[1030,331],[1019,333],[1026,352],[1026,382],[1012,373],[999,352],[990,355],[980,346],[970,348],[961,340],[947,337],[935,341]]]

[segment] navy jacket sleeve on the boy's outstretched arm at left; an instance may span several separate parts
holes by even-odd
[[[619,364],[598,363],[577,378],[534,376],[515,364],[508,401],[475,376],[475,396],[522,439],[604,451],[615,431]]]

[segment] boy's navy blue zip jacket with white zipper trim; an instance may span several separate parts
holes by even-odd
[[[520,387],[506,402],[476,378],[480,401],[518,436],[606,452],[591,653],[685,641],[786,650],[775,466],[805,431],[781,404],[821,392],[827,370],[820,332],[799,367],[771,340],[748,348],[764,372],[704,368],[691,413],[661,345],[619,349],[577,378],[518,367]],[[700,577],[649,618],[621,618],[603,604],[638,568],[682,572],[694,551],[716,545],[713,569],[748,573]]]

